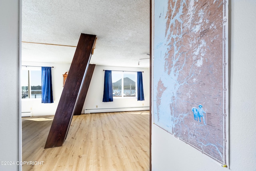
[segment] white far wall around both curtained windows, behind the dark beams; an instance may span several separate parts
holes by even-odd
[[[41,98],[28,98],[21,100],[22,112],[32,111],[32,116],[54,115],[58,107],[60,96],[63,90],[62,75],[69,70],[71,64],[38,63],[22,61],[22,65],[54,67],[52,69],[52,91],[54,103],[41,103]],[[102,102],[104,87],[103,69],[122,71],[144,71],[142,76],[145,100],[137,101],[137,98],[114,98],[114,102]],[[94,73],[92,75],[92,80],[88,89],[84,107],[82,109],[82,113],[149,110],[149,92],[150,90],[148,68],[124,68],[96,65]],[[96,106],[98,106],[98,108],[96,108]]]

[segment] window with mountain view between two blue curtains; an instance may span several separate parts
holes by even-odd
[[[136,72],[112,71],[113,97],[136,97]]]

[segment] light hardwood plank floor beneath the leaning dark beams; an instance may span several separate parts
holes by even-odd
[[[23,171],[149,171],[149,111],[73,116],[62,147],[44,149],[54,116],[22,118]]]

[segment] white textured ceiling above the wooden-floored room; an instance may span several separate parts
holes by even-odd
[[[90,63],[149,67],[150,0],[22,0],[22,61],[71,63],[81,33],[97,37]]]

